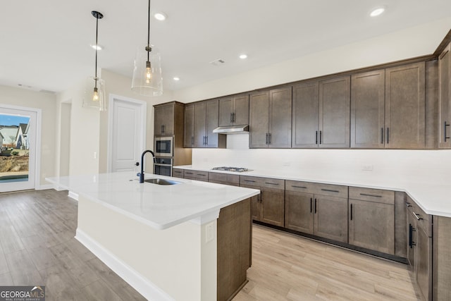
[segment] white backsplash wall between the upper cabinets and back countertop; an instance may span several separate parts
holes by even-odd
[[[227,149],[192,149],[192,166],[246,167],[274,176],[362,185],[416,179],[449,185],[451,150],[249,149],[249,135],[241,134],[227,136]],[[364,166],[373,170],[363,171]]]

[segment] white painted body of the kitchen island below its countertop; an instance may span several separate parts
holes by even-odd
[[[216,220],[211,223],[216,229]],[[78,240],[107,265],[111,258],[101,256],[111,254],[116,260],[111,269],[150,300],[216,299],[217,237],[206,242],[205,226],[185,222],[156,230],[98,202],[81,196],[78,202]],[[86,237],[102,252],[92,250]],[[134,285],[130,274],[149,285]],[[155,287],[163,292],[159,297]]]

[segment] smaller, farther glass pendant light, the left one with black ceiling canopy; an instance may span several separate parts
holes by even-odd
[[[104,15],[98,11],[92,11],[91,14],[94,18],[96,18],[96,66],[94,70],[94,77],[87,78],[83,106],[90,106],[99,109],[99,111],[106,111],[105,82],[97,76],[97,50],[99,49],[97,41],[99,37],[99,19],[104,18]]]

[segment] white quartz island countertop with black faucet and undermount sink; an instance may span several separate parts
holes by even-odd
[[[202,216],[214,216],[223,207],[240,202],[259,190],[195,180],[146,174],[145,178],[163,178],[176,185],[139,183],[135,173],[103,173],[91,176],[46,178],[58,189],[66,189],[113,210],[166,229],[185,221],[202,222]]]

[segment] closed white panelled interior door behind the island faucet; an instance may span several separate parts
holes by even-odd
[[[139,171],[135,163],[145,145],[146,103],[113,97],[110,119],[111,166],[109,171]]]

